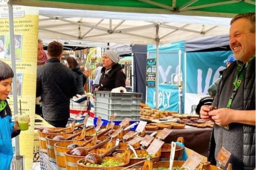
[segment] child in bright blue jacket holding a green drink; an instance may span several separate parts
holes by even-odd
[[[10,170],[13,158],[11,138],[20,134],[17,120],[11,121],[11,109],[6,100],[12,90],[13,75],[11,67],[0,61],[0,170]]]

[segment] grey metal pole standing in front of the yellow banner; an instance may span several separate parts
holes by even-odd
[[[10,28],[10,49],[11,49],[11,68],[14,72],[13,77],[13,111],[14,115],[18,114],[17,105],[17,81],[16,81],[16,61],[15,61],[15,44],[14,44],[14,26],[13,26],[13,5],[8,3],[9,8],[9,28]],[[20,170],[20,141],[19,136],[15,138],[15,156],[16,156],[16,169]]]

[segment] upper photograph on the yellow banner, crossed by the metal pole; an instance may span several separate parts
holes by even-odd
[[[14,46],[15,46],[15,59],[20,62],[22,51],[22,34],[14,34]],[[5,38],[5,60],[11,60],[11,48],[10,48],[10,34],[6,34]]]

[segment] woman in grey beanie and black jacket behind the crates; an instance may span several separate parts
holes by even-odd
[[[119,55],[113,50],[108,50],[103,54],[100,86],[95,88],[95,91],[111,91],[117,87],[125,87],[126,75],[122,66],[118,64],[119,60]]]

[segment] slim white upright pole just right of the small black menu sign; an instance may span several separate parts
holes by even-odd
[[[159,77],[159,72],[158,72],[158,65],[159,65],[159,59],[158,59],[158,55],[159,55],[159,36],[158,36],[158,29],[159,29],[159,26],[157,25],[156,26],[156,109],[159,108],[159,80],[158,80],[158,77]]]

